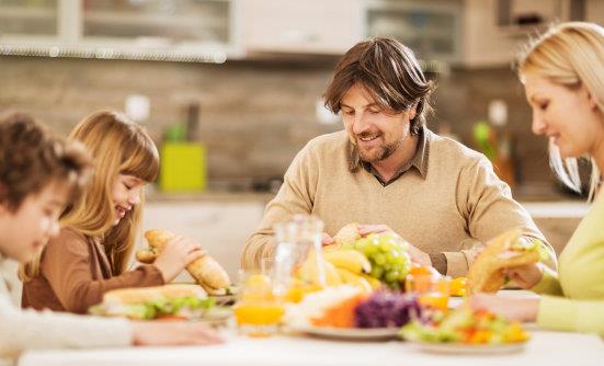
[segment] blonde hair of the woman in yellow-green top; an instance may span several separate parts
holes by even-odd
[[[594,23],[569,22],[552,26],[532,41],[518,58],[518,75],[524,82],[527,75],[575,89],[581,85],[591,93],[600,112],[604,112],[604,28]],[[600,171],[591,159],[590,201],[601,182]],[[549,145],[549,161],[570,188],[581,192],[581,179],[575,158],[562,161],[557,146]]]

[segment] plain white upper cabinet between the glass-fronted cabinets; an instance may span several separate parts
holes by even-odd
[[[362,0],[248,0],[241,28],[250,53],[343,54],[362,39]]]

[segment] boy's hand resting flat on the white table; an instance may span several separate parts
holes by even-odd
[[[134,345],[205,345],[223,343],[212,329],[198,322],[133,322]]]

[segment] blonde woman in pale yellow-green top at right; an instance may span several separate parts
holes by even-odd
[[[558,273],[540,265],[508,271],[540,299],[478,295],[470,304],[544,328],[604,334],[604,195],[596,194],[604,170],[604,28],[560,24],[534,42],[518,66],[533,131],[549,138],[562,182],[580,190],[577,158],[591,159],[593,205],[562,251]]]

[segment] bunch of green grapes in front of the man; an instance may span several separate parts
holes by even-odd
[[[360,251],[369,260],[372,277],[392,289],[401,288],[401,283],[411,268],[404,240],[391,233],[371,233],[355,241],[350,249]]]

